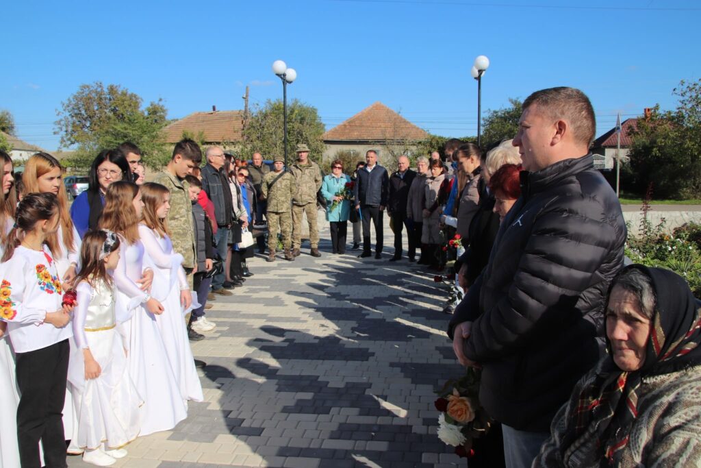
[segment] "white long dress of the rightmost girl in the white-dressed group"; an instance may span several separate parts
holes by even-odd
[[[195,361],[187,337],[184,311],[180,304],[180,288],[187,288],[182,269],[182,255],[175,253],[168,236],[158,236],[149,227],[139,225],[139,237],[154,267],[151,295],[161,301],[165,309],[156,316],[165,350],[183,399],[202,401],[202,385],[197,375]]]

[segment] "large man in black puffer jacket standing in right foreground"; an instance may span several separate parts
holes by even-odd
[[[545,89],[523,109],[513,142],[522,195],[449,327],[458,359],[484,369],[479,397],[503,424],[508,467],[531,466],[554,413],[599,359],[626,237],[620,203],[587,154],[595,123],[586,95]]]

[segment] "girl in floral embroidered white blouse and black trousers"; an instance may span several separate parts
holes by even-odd
[[[46,240],[60,224],[54,194],[27,194],[15,213],[0,265],[0,319],[16,352],[20,390],[17,436],[22,467],[66,466],[61,412],[69,361],[67,327],[73,305],[62,305],[62,286]],[[3,413],[2,418],[13,417]]]

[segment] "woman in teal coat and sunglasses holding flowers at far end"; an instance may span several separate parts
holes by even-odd
[[[346,186],[348,184],[348,186]],[[331,229],[332,253],[346,253],[346,230],[351,215],[351,178],[343,173],[343,163],[331,163],[331,173],[324,178],[321,194],[326,199],[326,220]]]

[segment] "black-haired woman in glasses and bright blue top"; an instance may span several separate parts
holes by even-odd
[[[71,206],[71,218],[81,239],[88,229],[97,229],[104,194],[107,187],[118,180],[132,180],[129,163],[118,149],[105,149],[90,166],[88,189],[77,196]]]

